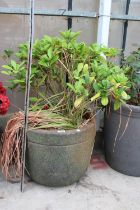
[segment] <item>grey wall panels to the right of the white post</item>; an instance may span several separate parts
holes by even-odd
[[[126,0],[113,0],[112,13],[125,14]],[[140,0],[131,0],[129,15],[140,16]],[[128,55],[140,46],[140,21],[129,21],[126,39],[126,51]],[[110,24],[109,46],[122,47],[123,21],[112,20]]]

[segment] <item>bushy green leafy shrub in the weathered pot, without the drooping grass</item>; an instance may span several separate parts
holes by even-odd
[[[127,89],[131,86],[124,68],[111,61],[118,51],[78,42],[79,34],[69,30],[60,37],[36,40],[30,80],[30,110],[49,109],[70,119],[74,127],[87,120],[87,113],[91,117],[97,107],[106,106],[110,100],[118,109],[130,99]],[[25,88],[27,52],[27,43],[21,44],[15,54],[18,61],[3,66],[2,73],[12,77],[10,88]]]

